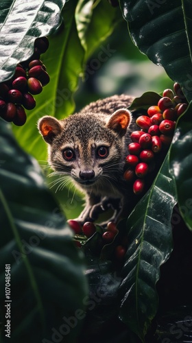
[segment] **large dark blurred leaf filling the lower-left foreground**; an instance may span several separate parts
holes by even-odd
[[[10,264],[11,342],[54,341],[55,330],[71,342],[82,325],[76,311],[85,316],[82,253],[38,163],[17,145],[10,124],[0,121],[0,300],[4,311],[5,264]],[[75,326],[64,333],[71,316]]]

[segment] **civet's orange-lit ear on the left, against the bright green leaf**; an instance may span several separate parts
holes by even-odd
[[[52,143],[53,138],[56,137],[62,130],[60,121],[54,117],[48,115],[39,119],[38,130],[42,134],[43,139],[49,144]]]

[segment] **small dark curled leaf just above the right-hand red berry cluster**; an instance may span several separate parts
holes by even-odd
[[[136,97],[132,102],[131,106],[129,106],[129,110],[139,110],[139,109],[147,109],[149,106],[156,106],[158,104],[158,100],[160,99],[160,95],[155,92],[145,92],[141,97]]]

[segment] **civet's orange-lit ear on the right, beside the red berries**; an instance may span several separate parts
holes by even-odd
[[[116,110],[112,113],[108,120],[107,127],[119,133],[122,137],[130,125],[131,120],[132,115],[130,111],[126,108],[121,108],[120,110]]]

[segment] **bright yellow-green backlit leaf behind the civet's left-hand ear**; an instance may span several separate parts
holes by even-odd
[[[38,161],[47,159],[46,144],[36,128],[38,119],[44,115],[62,119],[71,114],[75,107],[73,93],[77,89],[84,60],[84,49],[77,35],[74,18],[76,4],[77,0],[74,0],[64,6],[64,27],[49,37],[49,49],[42,58],[50,75],[49,84],[36,96],[36,108],[26,111],[25,125],[13,127],[21,147]]]

